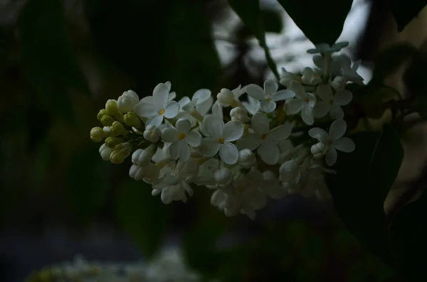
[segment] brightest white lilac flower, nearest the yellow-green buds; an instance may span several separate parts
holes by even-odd
[[[150,99],[142,99],[135,105],[135,113],[138,116],[149,118],[146,125],[159,126],[165,118],[172,119],[179,113],[179,104],[169,101],[169,90],[167,85],[159,83],[153,90]]]

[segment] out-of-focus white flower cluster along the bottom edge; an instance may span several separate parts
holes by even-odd
[[[191,282],[201,277],[187,269],[179,249],[165,249],[149,264],[89,263],[82,256],[73,262],[34,273],[29,282]]]

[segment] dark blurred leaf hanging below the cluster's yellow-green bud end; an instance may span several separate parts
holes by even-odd
[[[168,231],[170,206],[151,195],[147,183],[127,178],[117,192],[116,215],[142,254],[150,259]]]

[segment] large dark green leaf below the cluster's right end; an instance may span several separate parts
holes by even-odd
[[[341,153],[328,179],[335,208],[350,232],[367,249],[393,265],[386,234],[384,200],[401,167],[404,151],[396,131],[352,136],[356,149]]]

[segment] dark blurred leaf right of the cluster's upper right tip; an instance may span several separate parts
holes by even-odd
[[[383,84],[384,79],[391,75],[406,61],[419,55],[418,49],[409,43],[397,43],[382,50],[374,60],[374,72],[369,85]]]

